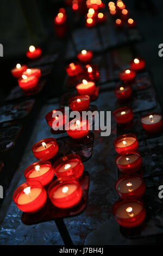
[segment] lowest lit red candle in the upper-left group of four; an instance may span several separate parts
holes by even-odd
[[[18,85],[25,91],[34,89],[37,86],[38,79],[36,76],[22,75],[22,78],[18,79]]]

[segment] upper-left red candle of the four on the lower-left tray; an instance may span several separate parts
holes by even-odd
[[[40,181],[42,186],[46,186],[54,177],[52,164],[48,161],[35,162],[24,170],[24,176],[29,183],[30,181]]]

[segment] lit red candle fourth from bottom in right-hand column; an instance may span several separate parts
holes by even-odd
[[[118,154],[128,150],[136,151],[138,148],[137,138],[132,133],[123,134],[114,140],[114,147]]]

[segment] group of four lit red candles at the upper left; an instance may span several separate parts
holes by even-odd
[[[34,59],[40,57],[41,53],[42,51],[40,48],[35,48],[31,45],[26,55],[28,58]],[[17,63],[15,68],[11,70],[11,74],[17,78],[18,86],[20,86],[24,92],[29,92],[37,88],[37,83],[41,77],[41,70],[36,68],[29,69],[27,65]]]

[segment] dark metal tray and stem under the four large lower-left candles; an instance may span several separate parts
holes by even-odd
[[[55,179],[57,178],[54,178],[52,182]],[[33,214],[23,212],[21,221],[26,225],[33,225],[54,220],[65,245],[73,245],[70,234],[68,233],[64,223],[64,218],[77,216],[86,209],[87,196],[89,192],[89,180],[89,173],[84,171],[83,175],[79,179],[80,186],[82,187],[82,198],[76,206],[69,209],[59,209],[51,203],[49,198],[47,198],[46,204],[39,211]],[[46,191],[48,190],[49,185],[50,184],[45,187]]]

